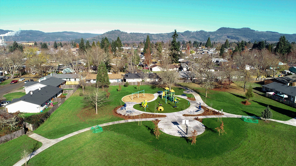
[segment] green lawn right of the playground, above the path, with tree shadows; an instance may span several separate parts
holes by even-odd
[[[248,100],[251,105],[243,105],[240,102],[247,99],[244,96],[245,92],[240,90],[235,89],[236,91],[234,92],[209,90],[207,93],[207,98],[205,98],[205,89],[194,87],[196,84],[181,83],[181,85],[189,87],[195,92],[199,93],[200,97],[207,105],[213,103],[213,108],[217,110],[223,109],[223,111],[226,113],[233,113],[237,115],[255,115],[260,117],[261,112],[267,107],[267,105],[269,105],[273,114],[272,119],[287,121],[296,117],[295,108],[265,97],[265,95],[262,96],[254,93],[255,96]]]

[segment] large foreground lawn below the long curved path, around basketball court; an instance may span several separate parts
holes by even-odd
[[[219,122],[203,119],[206,131],[197,136],[196,145],[162,132],[156,139],[151,121],[141,126],[136,122],[105,126],[101,133],[86,131],[49,147],[29,165],[295,164],[295,126],[262,120],[247,123],[239,118],[222,121],[227,134],[219,136],[214,129]]]

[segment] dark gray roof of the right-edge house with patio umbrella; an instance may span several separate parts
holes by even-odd
[[[270,84],[261,85],[261,86],[282,92],[286,95],[296,96],[296,87],[288,86],[278,82],[272,82]]]

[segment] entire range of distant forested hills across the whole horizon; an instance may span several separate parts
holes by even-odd
[[[150,41],[168,41],[172,39],[173,32],[170,33],[127,33],[120,30],[112,30],[104,34],[93,34],[93,33],[78,33],[78,32],[42,32],[38,30],[20,30],[17,32],[11,30],[0,30],[0,34],[12,33],[13,36],[4,37],[6,41],[70,41],[77,40],[78,38],[86,38],[90,41],[99,40],[107,37],[109,40],[116,40],[117,37],[120,38],[122,42],[125,43],[139,43],[144,41],[149,35]],[[222,27],[213,32],[206,32],[204,30],[200,31],[185,31],[178,32],[178,41],[189,41],[192,42],[197,40],[199,42],[206,42],[207,38],[210,37],[212,42],[225,42],[226,39],[229,41],[251,41],[254,42],[266,40],[267,42],[278,42],[279,37],[285,35],[289,42],[296,41],[296,34],[283,34],[271,31],[256,31],[250,28],[227,28]]]

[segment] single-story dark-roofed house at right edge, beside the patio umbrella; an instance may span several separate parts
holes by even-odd
[[[296,87],[288,86],[285,84],[281,84],[278,82],[272,82],[267,85],[261,85],[263,92],[274,92],[274,94],[280,96],[286,95],[287,97],[284,97],[284,99],[289,100],[293,103],[295,103],[296,99]]]

